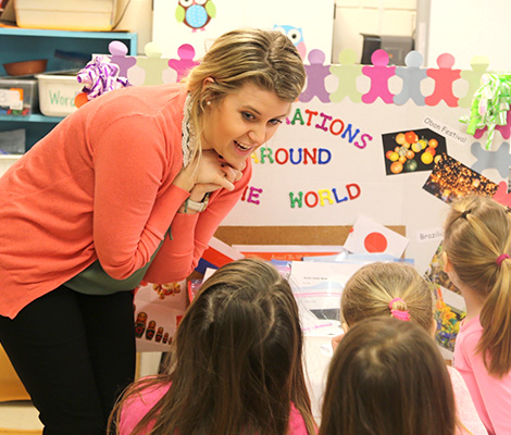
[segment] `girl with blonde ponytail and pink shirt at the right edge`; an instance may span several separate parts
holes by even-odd
[[[511,422],[511,215],[485,197],[463,198],[445,222],[445,272],[466,304],[454,366],[488,432]]]

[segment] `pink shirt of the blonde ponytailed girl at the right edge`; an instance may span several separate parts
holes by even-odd
[[[511,433],[511,372],[490,376],[475,349],[483,335],[479,316],[463,321],[454,346],[454,366],[463,376],[475,408],[490,435]]]

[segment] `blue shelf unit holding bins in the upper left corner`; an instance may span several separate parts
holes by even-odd
[[[32,59],[48,59],[48,72],[79,70],[92,53],[109,53],[113,40],[124,42],[128,54],[137,54],[137,34],[125,32],[70,32],[0,27],[0,76],[3,64]],[[28,116],[0,115],[0,132],[25,128],[28,151],[62,119],[33,113]]]

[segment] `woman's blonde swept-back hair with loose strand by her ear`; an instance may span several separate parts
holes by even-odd
[[[240,28],[220,36],[201,63],[185,78],[190,117],[201,150],[202,115],[207,101],[219,102],[246,84],[294,102],[306,84],[306,69],[290,39],[277,30]],[[212,78],[214,83],[204,80]]]

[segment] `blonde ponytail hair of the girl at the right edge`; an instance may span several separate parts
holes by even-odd
[[[486,197],[453,202],[445,222],[444,249],[463,285],[484,300],[483,335],[477,351],[488,373],[501,377],[511,370],[511,216]]]

